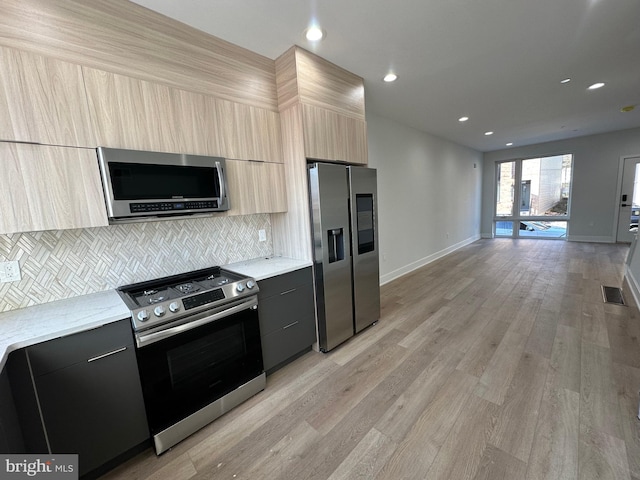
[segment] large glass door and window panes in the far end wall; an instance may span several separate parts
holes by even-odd
[[[573,155],[496,164],[496,237],[566,239]]]

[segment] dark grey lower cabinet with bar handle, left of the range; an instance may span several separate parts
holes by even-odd
[[[95,476],[148,441],[129,320],[25,350],[48,449],[33,453],[77,453],[80,475]],[[24,420],[35,432],[34,419]]]

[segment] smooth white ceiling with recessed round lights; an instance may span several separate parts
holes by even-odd
[[[640,127],[640,0],[135,3],[271,59],[300,45],[363,77],[367,112],[483,152]]]

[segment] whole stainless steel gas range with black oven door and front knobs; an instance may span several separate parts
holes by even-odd
[[[157,454],[264,389],[254,279],[212,267],[118,293]]]

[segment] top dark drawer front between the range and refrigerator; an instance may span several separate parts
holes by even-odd
[[[301,318],[314,317],[313,287],[310,283],[285,290],[258,302],[260,335],[280,330]]]

